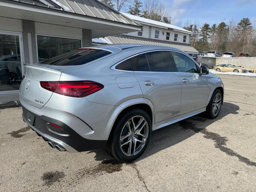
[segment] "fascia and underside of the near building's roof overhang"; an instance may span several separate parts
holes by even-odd
[[[0,2],[0,16],[89,29],[92,30],[92,38],[133,32],[141,29],[141,26],[138,25],[83,16],[61,10],[51,10],[49,8],[7,0]]]

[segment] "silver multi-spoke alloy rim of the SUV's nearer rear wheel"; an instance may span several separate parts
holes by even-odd
[[[122,128],[120,148],[126,156],[134,156],[144,148],[147,138],[147,120],[142,116],[133,116]]]

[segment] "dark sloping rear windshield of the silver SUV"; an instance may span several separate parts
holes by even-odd
[[[111,52],[101,49],[78,49],[50,58],[48,60],[44,60],[40,62],[40,64],[61,66],[83,65],[102,58],[108,54],[111,54]]]

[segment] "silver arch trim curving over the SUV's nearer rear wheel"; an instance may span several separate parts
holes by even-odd
[[[106,126],[106,130],[105,130],[105,134],[109,137],[110,132],[112,130],[112,127],[114,126],[114,122],[116,121],[116,118],[118,117],[118,115],[127,107],[132,106],[132,105],[136,105],[136,104],[147,104],[148,106],[150,106],[151,111],[152,111],[152,124],[155,123],[155,110],[154,110],[154,106],[152,104],[152,102],[146,98],[134,98],[134,99],[130,99],[127,100],[125,102],[123,102],[122,104],[120,104],[112,113],[112,115],[110,116],[110,119],[108,121],[108,124]]]

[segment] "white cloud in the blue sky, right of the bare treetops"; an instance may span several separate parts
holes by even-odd
[[[192,0],[173,0],[172,6],[168,8],[168,13],[171,16],[171,22],[174,25],[181,26],[183,19],[182,16],[186,12],[185,5]]]

